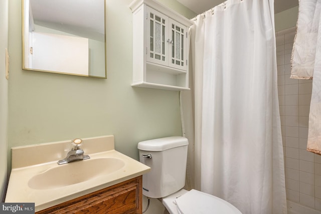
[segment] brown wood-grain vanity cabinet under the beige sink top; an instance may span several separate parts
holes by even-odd
[[[123,214],[142,212],[142,175],[40,210],[40,213]]]

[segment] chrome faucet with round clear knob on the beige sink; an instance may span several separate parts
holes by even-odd
[[[69,163],[76,160],[85,160],[89,159],[89,155],[84,155],[84,150],[80,148],[82,144],[82,139],[76,138],[71,141],[72,149],[68,152],[65,159],[59,160],[58,165]]]

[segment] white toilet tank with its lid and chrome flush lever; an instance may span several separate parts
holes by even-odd
[[[161,198],[185,185],[188,139],[174,136],[138,143],[139,161],[151,170],[143,174],[143,194]],[[151,158],[148,158],[150,154]],[[150,157],[149,156],[149,157]]]

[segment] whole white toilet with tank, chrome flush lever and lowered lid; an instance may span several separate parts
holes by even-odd
[[[164,137],[138,143],[139,161],[151,170],[142,177],[143,194],[159,198],[171,214],[241,214],[229,202],[195,189],[183,189],[188,139]]]

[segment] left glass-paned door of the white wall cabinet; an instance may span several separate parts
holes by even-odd
[[[168,17],[147,7],[147,57],[149,62],[168,65]]]

